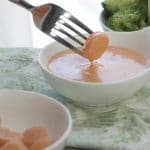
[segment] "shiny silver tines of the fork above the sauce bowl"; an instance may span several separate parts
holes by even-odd
[[[91,33],[92,30],[90,30],[82,22],[70,15],[68,12],[64,12],[55,23],[50,32],[50,36],[68,48],[78,49],[78,47],[84,45],[87,38],[85,34]],[[69,37],[69,40],[66,40],[65,37]]]

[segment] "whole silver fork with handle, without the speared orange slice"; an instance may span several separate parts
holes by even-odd
[[[84,41],[87,39],[85,34],[81,32],[84,30],[86,34],[91,34],[92,30],[84,25],[81,21],[71,15],[69,12],[64,10],[55,4],[44,4],[41,6],[34,7],[24,0],[9,0],[16,3],[32,13],[35,25],[44,33],[65,45],[66,47],[78,51],[81,51],[74,46],[78,44],[79,47],[83,46]],[[77,34],[77,36],[74,36]],[[71,41],[66,40],[64,37],[69,37]],[[75,43],[74,43],[75,42]],[[73,44],[74,43],[74,44]]]

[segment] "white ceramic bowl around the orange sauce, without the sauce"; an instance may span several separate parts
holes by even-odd
[[[133,48],[150,57],[150,28],[136,32],[106,32],[110,45]],[[127,99],[141,89],[150,78],[150,68],[128,80],[109,83],[87,83],[65,79],[52,74],[48,60],[55,53],[66,49],[57,42],[43,49],[39,63],[50,85],[60,94],[85,105],[97,106]]]

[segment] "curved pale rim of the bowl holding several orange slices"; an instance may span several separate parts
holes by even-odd
[[[56,140],[54,143],[49,145],[47,148],[53,148],[54,149],[58,145],[63,143],[64,140],[67,139],[67,137],[69,136],[69,134],[70,134],[70,132],[72,130],[72,117],[71,117],[71,113],[70,113],[69,109],[66,106],[64,106],[62,103],[58,102],[56,99],[54,99],[54,98],[52,98],[50,96],[38,93],[38,92],[27,91],[27,90],[17,90],[17,89],[0,89],[0,93],[8,93],[8,92],[9,93],[24,93],[24,94],[30,94],[30,95],[39,96],[41,98],[43,97],[43,98],[45,98],[44,101],[47,101],[47,102],[51,101],[53,104],[61,107],[62,110],[64,111],[64,113],[66,114],[67,118],[68,118],[67,127],[66,127],[64,133],[58,138],[58,140]]]

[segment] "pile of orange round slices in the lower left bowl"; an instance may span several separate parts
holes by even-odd
[[[0,150],[41,150],[50,144],[52,140],[42,127],[32,127],[23,133],[0,128]]]

